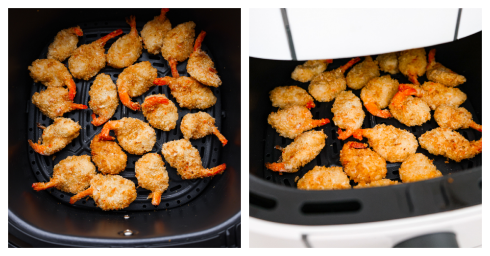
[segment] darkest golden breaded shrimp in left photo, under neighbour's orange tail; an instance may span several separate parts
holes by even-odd
[[[103,140],[100,134],[90,142],[92,161],[102,174],[118,174],[126,168],[127,156],[114,141]]]

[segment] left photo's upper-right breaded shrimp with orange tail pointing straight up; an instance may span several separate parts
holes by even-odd
[[[218,71],[215,70],[214,62],[206,52],[201,50],[201,43],[205,35],[206,32],[201,31],[197,36],[194,51],[187,61],[187,72],[203,85],[218,87],[221,85],[221,78]]]

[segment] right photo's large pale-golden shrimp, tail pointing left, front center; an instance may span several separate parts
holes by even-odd
[[[403,162],[417,151],[418,143],[415,136],[392,125],[377,124],[372,129],[354,132],[354,138],[368,138],[369,145],[391,163]]]

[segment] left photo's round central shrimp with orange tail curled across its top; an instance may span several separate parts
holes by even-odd
[[[165,94],[147,96],[141,110],[151,126],[166,132],[174,129],[179,119],[177,107]]]

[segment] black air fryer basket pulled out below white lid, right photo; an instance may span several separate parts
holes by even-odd
[[[467,82],[458,88],[467,94],[461,105],[473,115],[477,123],[482,120],[482,34],[425,47],[426,52],[437,49],[436,60],[446,67],[466,76]],[[372,55],[373,59],[377,55]],[[356,57],[356,56],[353,56]],[[333,70],[347,63],[351,58],[334,59],[327,70]],[[291,78],[294,67],[304,61],[277,61],[249,58],[250,66],[250,216],[263,220],[298,225],[335,225],[372,221],[383,221],[424,214],[460,209],[482,203],[482,154],[456,163],[442,156],[429,154],[420,146],[417,153],[423,153],[444,175],[443,177],[396,186],[365,189],[330,191],[304,191],[296,189],[295,178],[303,177],[314,166],[342,166],[340,150],[349,138],[337,139],[337,127],[333,122],[315,128],[328,136],[325,147],[316,159],[300,168],[296,173],[280,175],[265,168],[265,163],[276,162],[281,152],[275,145],[285,147],[293,140],[280,137],[268,124],[267,116],[277,111],[271,106],[269,92],[277,86],[297,85],[305,90],[309,83],[300,83]],[[349,70],[345,72],[347,74]],[[385,73],[382,72],[382,75]],[[401,73],[392,75],[401,83],[410,83]],[[427,81],[425,75],[419,81]],[[361,90],[353,91],[359,97]],[[314,119],[332,120],[331,108],[334,101],[318,102],[311,109]],[[363,107],[364,108],[364,107]],[[372,116],[364,108],[366,117],[363,128],[386,123],[412,132],[418,139],[423,133],[438,127],[432,119],[422,126],[408,127],[394,118],[384,119]],[[472,129],[458,130],[468,140],[479,140],[482,134]],[[362,142],[367,142],[364,139]],[[445,163],[447,161],[447,163]],[[386,178],[400,181],[398,168],[401,163],[387,163]],[[401,181],[400,181],[401,182]],[[351,185],[354,185],[351,183]]]

